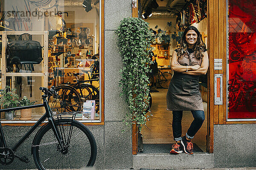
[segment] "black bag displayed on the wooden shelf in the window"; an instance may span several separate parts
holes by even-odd
[[[18,57],[21,64],[40,64],[43,60],[42,46],[34,40],[18,40],[8,44],[9,59]]]

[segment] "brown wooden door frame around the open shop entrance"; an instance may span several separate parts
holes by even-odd
[[[214,125],[224,124],[227,102],[227,1],[207,0],[207,44],[209,55],[207,150],[213,153]],[[132,8],[132,17],[138,17],[138,8]],[[222,59],[223,69],[214,70],[214,59]],[[214,74],[223,74],[223,105],[214,105]],[[132,153],[137,154],[137,126],[132,126]]]

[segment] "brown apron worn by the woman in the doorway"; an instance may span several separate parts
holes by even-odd
[[[197,59],[192,53],[185,54],[178,62],[180,65],[201,65],[202,59]],[[204,111],[199,76],[174,72],[166,100],[169,111]]]

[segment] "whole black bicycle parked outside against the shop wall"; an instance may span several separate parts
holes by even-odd
[[[47,97],[56,95],[54,88],[39,89],[44,93],[42,104],[0,109],[0,112],[39,107],[44,107],[46,110],[46,113],[12,148],[7,147],[0,122],[0,164],[11,164],[14,159],[28,163],[29,159],[26,156],[17,156],[15,151],[48,119],[48,123],[38,130],[32,142],[33,159],[38,170],[81,168],[79,164],[93,166],[97,154],[96,142],[90,130],[75,120],[79,112],[53,112]]]

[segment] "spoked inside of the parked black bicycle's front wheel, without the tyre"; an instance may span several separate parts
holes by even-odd
[[[64,150],[58,143],[52,130],[47,130],[38,145],[41,164],[49,169],[80,168],[90,162],[91,145],[80,125],[70,121],[57,126],[61,134]],[[52,140],[52,144],[49,144]],[[45,144],[48,143],[48,144]],[[77,155],[78,154],[78,155]],[[76,156],[77,155],[77,156]]]

